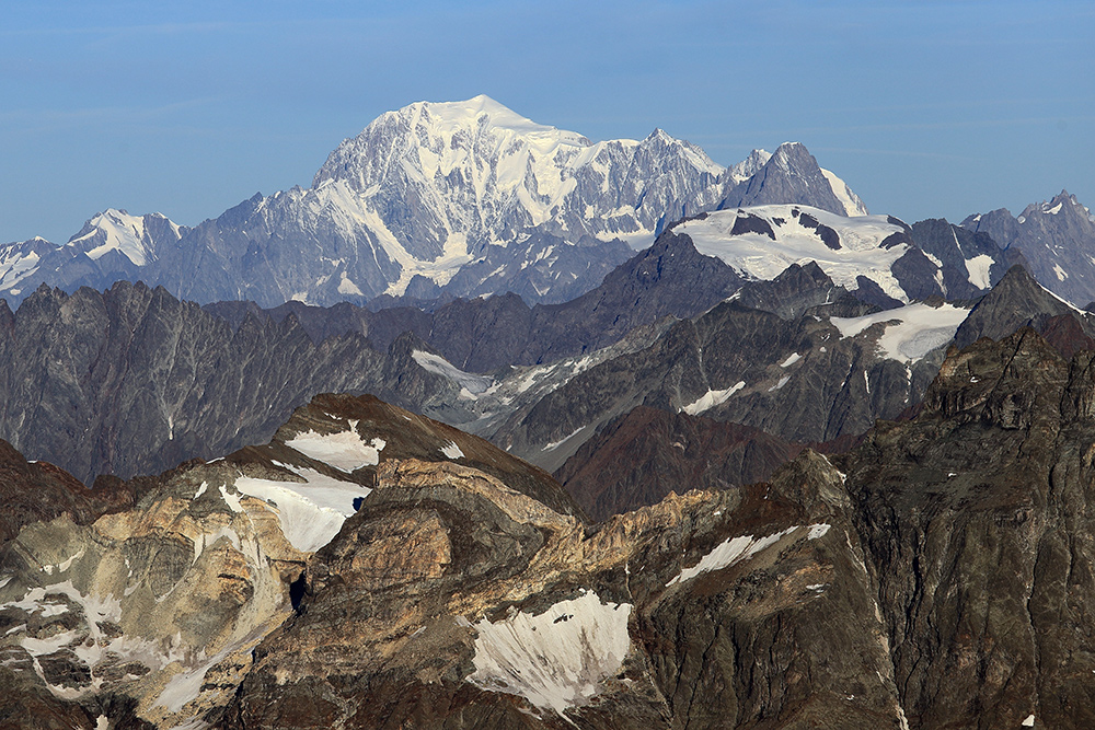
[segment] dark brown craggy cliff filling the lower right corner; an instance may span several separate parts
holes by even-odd
[[[1095,721],[1091,359],[979,340],[839,462],[911,727]]]

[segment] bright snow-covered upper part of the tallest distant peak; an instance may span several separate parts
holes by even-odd
[[[344,184],[376,211],[385,237],[430,259],[460,239],[475,255],[545,223],[646,244],[667,213],[713,205],[722,172],[660,129],[592,143],[476,96],[382,115],[331,153],[312,188]]]

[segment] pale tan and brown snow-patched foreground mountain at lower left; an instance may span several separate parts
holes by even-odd
[[[318,397],[269,444],[131,483],[140,498],[129,509],[26,521],[0,552],[0,676],[20,688],[0,703],[0,723],[215,719],[255,644],[299,604],[314,552],[376,488],[378,468],[406,460],[505,479],[509,494],[583,524],[548,474],[481,439],[373,397]],[[41,482],[4,488],[47,506]],[[36,703],[45,717],[25,715]]]

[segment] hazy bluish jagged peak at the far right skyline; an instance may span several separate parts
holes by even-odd
[[[1077,306],[1095,301],[1095,216],[1068,190],[1027,206],[1018,218],[1000,208],[970,216],[961,225],[1021,250],[1030,271],[1053,293]]]

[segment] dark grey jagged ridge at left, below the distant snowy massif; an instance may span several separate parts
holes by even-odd
[[[0,329],[0,436],[85,483],[265,441],[293,407],[332,389],[426,410],[459,390],[360,335],[316,345],[293,317],[245,317],[233,332],[139,283],[38,291]]]

